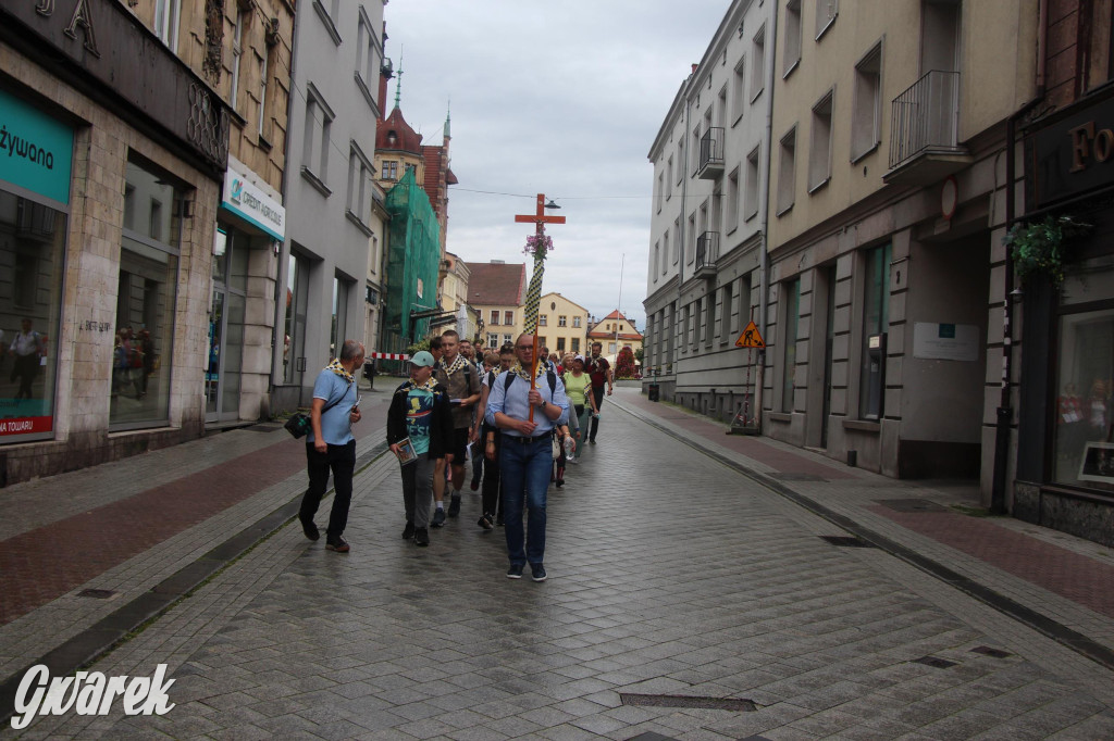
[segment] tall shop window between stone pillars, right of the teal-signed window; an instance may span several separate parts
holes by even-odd
[[[148,218],[125,211],[117,278],[109,425],[131,429],[165,425],[170,412],[170,366],[178,284],[178,234],[174,214],[182,192],[162,175],[129,161],[127,185],[136,197],[125,208],[146,208]],[[164,206],[165,205],[165,206]]]

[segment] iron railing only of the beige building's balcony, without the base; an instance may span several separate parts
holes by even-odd
[[[893,99],[890,169],[926,149],[956,149],[959,72],[932,70]]]

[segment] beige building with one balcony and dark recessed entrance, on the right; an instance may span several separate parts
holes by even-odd
[[[1037,0],[779,3],[763,432],[988,491]]]

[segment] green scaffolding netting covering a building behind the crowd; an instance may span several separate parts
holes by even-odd
[[[408,168],[387,194],[391,216],[387,258],[385,352],[402,352],[426,336],[429,319],[410,319],[410,309],[437,308],[437,279],[441,261],[441,227],[429,196]]]

